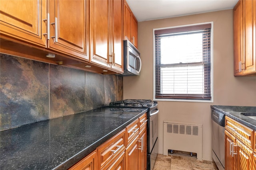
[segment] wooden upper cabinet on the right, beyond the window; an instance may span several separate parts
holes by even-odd
[[[239,0],[234,7],[234,76],[256,75],[255,10],[255,0]]]

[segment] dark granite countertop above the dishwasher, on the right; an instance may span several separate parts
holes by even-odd
[[[211,106],[211,108],[224,113],[228,117],[254,129],[256,131],[256,120],[241,113],[256,113],[254,106]]]

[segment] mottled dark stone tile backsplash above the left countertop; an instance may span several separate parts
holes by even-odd
[[[0,54],[0,130],[108,106],[123,78]]]

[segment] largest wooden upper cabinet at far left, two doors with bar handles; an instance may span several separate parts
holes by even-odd
[[[89,60],[89,1],[1,0],[1,35]]]

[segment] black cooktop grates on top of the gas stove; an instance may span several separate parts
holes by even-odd
[[[117,102],[111,102],[109,106],[117,107],[143,107],[145,104],[152,102],[152,100],[137,100],[137,99],[126,99]]]

